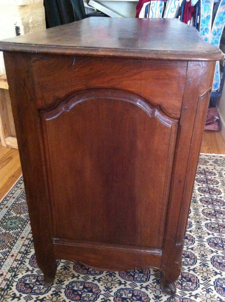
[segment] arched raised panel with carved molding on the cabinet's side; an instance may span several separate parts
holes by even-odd
[[[54,238],[160,249],[177,121],[116,89],[74,91],[39,114]]]

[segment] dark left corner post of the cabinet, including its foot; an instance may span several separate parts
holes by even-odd
[[[30,56],[4,53],[36,259],[45,280],[56,272],[43,146]]]

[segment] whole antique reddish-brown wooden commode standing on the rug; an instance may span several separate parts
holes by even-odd
[[[55,259],[155,267],[176,291],[216,60],[176,19],[87,18],[0,42],[30,222]]]

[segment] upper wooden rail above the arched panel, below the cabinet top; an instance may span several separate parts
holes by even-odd
[[[84,88],[118,88],[140,94],[180,117],[187,62],[33,55],[39,107],[54,95]]]

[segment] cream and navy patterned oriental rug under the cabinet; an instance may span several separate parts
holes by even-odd
[[[225,157],[202,154],[196,175],[177,293],[160,290],[154,269],[108,272],[58,260],[52,287],[43,285],[21,177],[0,203],[0,301],[224,302]]]

